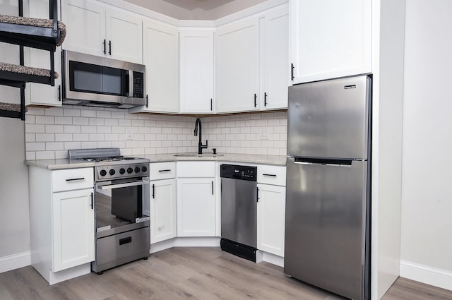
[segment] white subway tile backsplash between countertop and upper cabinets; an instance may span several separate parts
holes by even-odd
[[[28,160],[65,158],[78,148],[121,148],[123,155],[196,152],[195,117],[129,114],[97,107],[30,107],[25,121]],[[203,143],[218,152],[285,155],[287,113],[263,112],[201,118]],[[126,128],[132,128],[131,140]],[[268,139],[261,140],[264,128]]]

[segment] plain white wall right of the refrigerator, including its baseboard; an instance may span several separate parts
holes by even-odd
[[[452,289],[452,1],[407,0],[400,275]]]

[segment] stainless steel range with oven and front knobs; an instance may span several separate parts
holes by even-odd
[[[147,258],[150,250],[149,160],[119,148],[69,150],[69,160],[94,162],[96,257],[103,270]]]

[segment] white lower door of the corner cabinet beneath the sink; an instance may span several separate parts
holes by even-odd
[[[177,179],[177,236],[215,236],[214,178]]]

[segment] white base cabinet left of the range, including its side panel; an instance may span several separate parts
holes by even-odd
[[[29,169],[31,264],[49,284],[95,260],[93,168]]]

